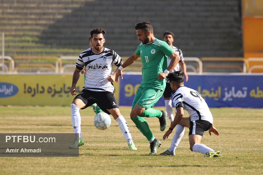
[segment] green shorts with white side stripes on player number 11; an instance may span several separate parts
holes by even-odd
[[[139,86],[136,95],[134,97],[132,107],[138,104],[145,109],[151,108],[156,102],[163,96],[163,91],[161,89],[141,87]]]

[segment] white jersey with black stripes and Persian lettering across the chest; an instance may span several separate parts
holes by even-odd
[[[113,92],[114,86],[107,80],[108,75],[112,74],[112,63],[122,65],[122,58],[114,50],[103,47],[100,53],[94,53],[91,47],[81,52],[76,67],[79,70],[86,67],[85,86],[82,89]]]

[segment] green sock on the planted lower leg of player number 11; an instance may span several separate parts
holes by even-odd
[[[151,132],[149,125],[144,120],[144,118],[138,116],[131,118],[131,120],[133,121],[133,123],[135,123],[136,127],[147,138],[147,140],[151,140],[154,138],[153,133]]]

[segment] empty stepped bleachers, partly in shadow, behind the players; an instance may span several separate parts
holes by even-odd
[[[174,32],[186,57],[242,57],[237,0],[0,0],[8,56],[78,56],[96,27],[107,31],[105,47],[130,56],[142,20],[151,22],[156,38]]]

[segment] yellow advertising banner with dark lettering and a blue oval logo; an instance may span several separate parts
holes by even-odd
[[[72,75],[1,75],[0,105],[69,106]],[[113,83],[119,101],[119,84]],[[82,91],[84,76],[80,75],[75,94]]]

